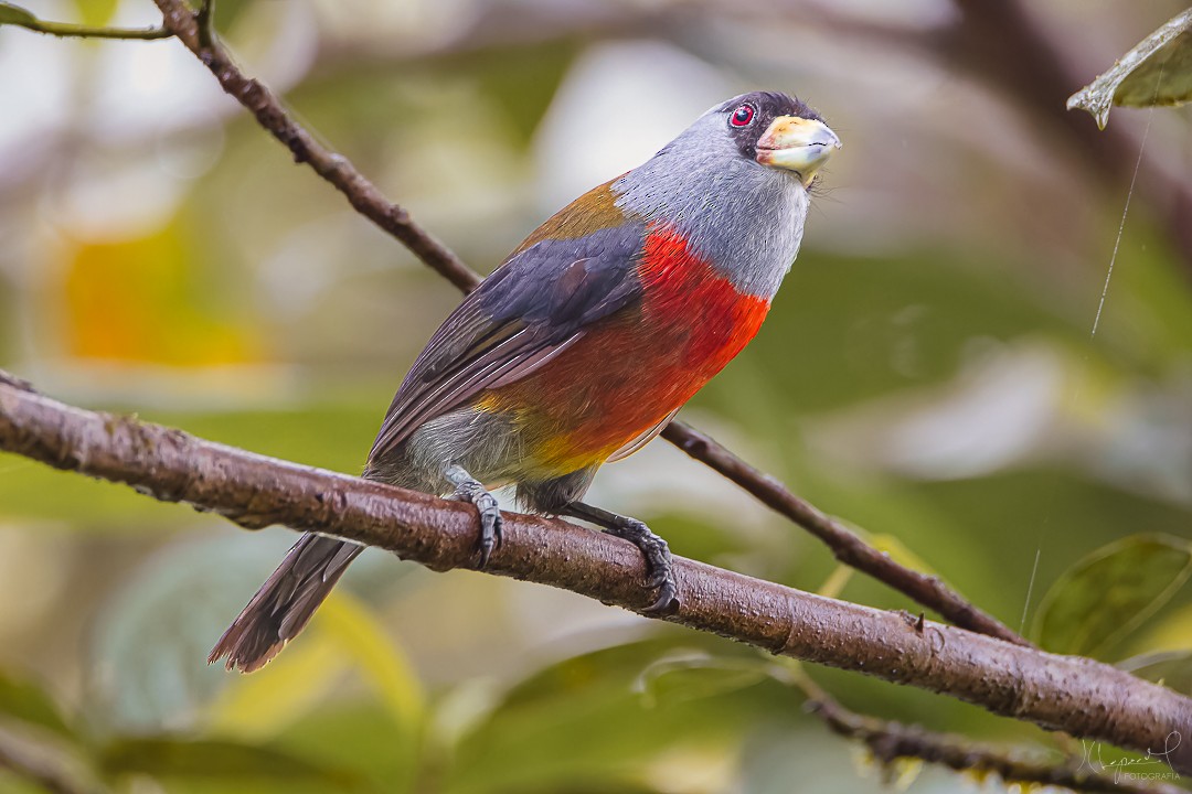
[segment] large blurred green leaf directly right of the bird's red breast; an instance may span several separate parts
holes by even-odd
[[[757,338],[693,405],[752,420],[764,438],[764,418],[740,409],[743,399],[756,399],[741,394],[743,369],[757,369],[758,388],[789,417],[836,412],[952,377],[970,358],[975,338],[1010,340],[1030,330],[1085,343],[1087,330],[1062,324],[1037,294],[1016,289],[997,262],[957,267],[958,258],[917,250],[879,264],[817,252],[790,271]],[[772,423],[765,426],[772,433]]]

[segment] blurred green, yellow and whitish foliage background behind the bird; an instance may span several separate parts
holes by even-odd
[[[88,24],[154,21],[132,0],[75,5]],[[1134,199],[1091,338],[1126,186],[1089,188],[1042,131],[1014,138],[1006,118],[1023,111],[949,63],[914,50],[907,76],[848,37],[824,38],[830,55],[758,44],[726,63],[734,30],[806,32],[731,10],[727,26],[663,27],[533,4],[510,25],[493,8],[222,2],[217,24],[298,118],[483,270],[555,208],[542,195],[564,171],[598,161],[607,179],[644,156],[606,146],[665,140],[758,81],[809,95],[845,140],[840,164],[762,333],[685,415],[1044,648],[1190,692],[1192,277],[1169,208]],[[0,30],[0,57],[45,81],[20,93],[0,62],[8,118],[27,120],[0,126],[21,155],[0,157],[0,364],[68,401],[358,471],[458,295],[186,54],[154,54],[170,43],[30,37]],[[918,611],[660,443],[596,488],[678,554]],[[751,649],[379,554],[265,670],[209,668],[292,540],[0,456],[0,736],[119,792],[766,794],[881,777],[803,714],[791,668]],[[861,711],[1064,749],[963,704],[803,674]],[[915,792],[957,784],[902,773]],[[8,790],[38,789],[0,771]]]

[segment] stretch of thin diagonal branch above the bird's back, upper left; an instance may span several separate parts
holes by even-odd
[[[181,0],[156,0],[156,2],[161,8],[166,27],[198,56],[228,94],[248,108],[262,127],[290,149],[294,162],[306,163],[313,168],[348,199],[356,212],[396,237],[416,257],[460,289],[467,292],[480,282],[479,275],[446,245],[414,223],[409,212],[385,199],[347,157],[327,149],[303,126],[296,124],[277,95],[262,83],[247,77],[215,36],[204,44],[203,39],[206,37],[201,35],[195,14],[185,2]]]

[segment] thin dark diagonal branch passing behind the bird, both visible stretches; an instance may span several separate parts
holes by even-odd
[[[211,37],[204,43],[195,15],[182,0],[155,1],[164,14],[166,26],[211,69],[225,92],[244,105],[262,127],[293,152],[297,162],[310,164],[319,176],[343,193],[362,215],[390,232],[422,262],[437,270],[462,292],[467,293],[479,283],[480,276],[476,271],[423,231],[409,213],[390,204],[346,157],[322,146],[313,136],[294,123],[277,95],[259,81],[241,73],[218,40]],[[957,626],[1026,644],[1026,640],[1011,629],[966,601],[938,579],[902,568],[867,545],[839,523],[791,494],[777,480],[752,469],[693,427],[675,423],[663,437],[809,531],[826,543],[845,564],[887,583]]]

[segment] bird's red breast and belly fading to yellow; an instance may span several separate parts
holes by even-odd
[[[652,225],[640,307],[590,327],[532,376],[482,400],[511,411],[544,471],[601,463],[687,402],[749,344],[770,308],[741,295],[672,229]]]

